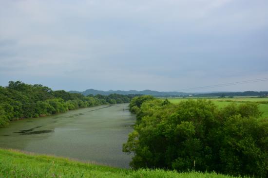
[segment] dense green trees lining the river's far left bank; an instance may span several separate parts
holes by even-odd
[[[0,127],[19,118],[31,118],[66,112],[81,107],[129,103],[134,95],[110,94],[84,96],[64,90],[53,91],[42,85],[10,81],[0,86]]]

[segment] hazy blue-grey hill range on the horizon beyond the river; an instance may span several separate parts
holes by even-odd
[[[89,94],[101,94],[101,95],[109,95],[112,93],[116,94],[143,94],[143,95],[153,95],[153,96],[189,96],[192,95],[193,93],[184,93],[184,92],[176,92],[176,91],[171,91],[171,92],[165,92],[165,91],[154,91],[154,90],[142,90],[142,91],[137,91],[137,90],[129,90],[129,91],[123,91],[123,90],[109,90],[109,91],[102,91],[102,90],[96,90],[96,89],[87,89],[85,91],[69,91],[70,93],[81,93],[85,96]]]

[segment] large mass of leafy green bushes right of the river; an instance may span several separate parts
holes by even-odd
[[[268,176],[268,119],[256,103],[216,107],[207,100],[179,104],[135,97],[137,122],[123,151],[134,168],[216,171]]]

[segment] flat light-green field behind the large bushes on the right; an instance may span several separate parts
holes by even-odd
[[[259,104],[259,109],[263,112],[262,118],[268,118],[268,98],[257,98],[257,97],[235,97],[235,98],[168,98],[171,103],[179,103],[181,101],[187,101],[189,99],[207,99],[211,100],[215,105],[219,107],[225,107],[230,103],[234,102],[237,104],[244,102],[256,102]],[[164,100],[164,98],[163,98]]]

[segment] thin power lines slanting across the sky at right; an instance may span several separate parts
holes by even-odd
[[[211,89],[211,88],[217,88],[217,87],[226,87],[226,86],[247,84],[247,83],[253,83],[253,82],[262,82],[262,81],[268,81],[268,78],[245,80],[245,81],[240,81],[240,82],[232,82],[232,83],[225,83],[225,84],[218,84],[218,85],[210,85],[210,86],[204,86],[204,87],[193,87],[193,88],[188,88],[188,89],[177,89],[177,90],[173,90],[173,91],[186,91],[186,90],[192,90],[192,89]]]

